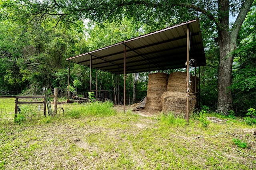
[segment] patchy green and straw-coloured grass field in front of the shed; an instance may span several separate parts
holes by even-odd
[[[255,169],[255,126],[210,115],[228,121],[204,124],[194,115],[187,124],[171,114],[118,113],[111,103],[70,104],[58,117],[35,121],[0,121],[0,169]]]

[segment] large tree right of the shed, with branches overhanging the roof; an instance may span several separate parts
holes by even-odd
[[[121,19],[123,16],[150,23],[152,29],[200,16],[207,24],[220,50],[218,68],[217,111],[232,109],[231,72],[236,40],[241,25],[254,0],[20,0],[28,6],[34,18],[47,15],[71,22],[89,18],[98,22]],[[238,14],[230,24],[229,16]],[[204,17],[203,17],[204,16]],[[207,18],[207,19],[206,19]],[[58,21],[56,22],[56,24]],[[209,27],[210,26],[210,27]]]

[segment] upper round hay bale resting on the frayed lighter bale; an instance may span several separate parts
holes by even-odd
[[[168,78],[167,91],[171,92],[186,92],[187,91],[187,73],[186,72],[172,72]],[[190,93],[194,93],[195,78],[190,74]]]

